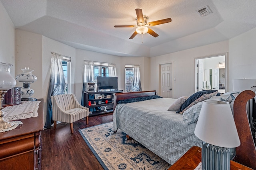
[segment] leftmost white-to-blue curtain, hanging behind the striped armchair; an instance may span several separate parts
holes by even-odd
[[[52,125],[52,102],[51,96],[57,94],[64,94],[65,91],[65,77],[62,67],[63,56],[57,53],[52,53],[52,63],[50,70],[50,85],[47,96],[47,114],[45,128],[51,128]]]

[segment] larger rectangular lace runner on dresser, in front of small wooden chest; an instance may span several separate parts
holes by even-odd
[[[27,119],[38,116],[38,107],[41,101],[22,101],[22,104],[4,107],[4,119],[8,121],[17,119]]]

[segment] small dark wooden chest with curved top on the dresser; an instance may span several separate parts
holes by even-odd
[[[4,95],[3,107],[21,104],[21,87],[14,87]]]

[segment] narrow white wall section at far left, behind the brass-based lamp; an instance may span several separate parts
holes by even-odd
[[[15,29],[1,1],[0,24],[0,62],[13,65],[10,72],[15,78]]]

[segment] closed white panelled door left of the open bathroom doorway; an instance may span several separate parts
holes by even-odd
[[[172,98],[172,63],[160,65],[161,94],[163,98]]]

